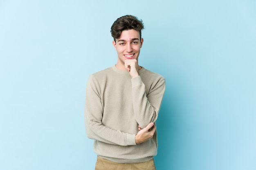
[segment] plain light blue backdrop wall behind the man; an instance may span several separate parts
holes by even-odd
[[[0,169],[93,170],[88,76],[110,27],[143,20],[139,64],[166,78],[158,170],[256,169],[256,1],[0,0]]]

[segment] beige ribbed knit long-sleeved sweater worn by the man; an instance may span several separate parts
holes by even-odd
[[[89,77],[85,98],[85,129],[94,152],[117,163],[148,161],[157,154],[157,132],[136,145],[138,125],[157,120],[165,78],[142,67],[139,76],[110,68]]]

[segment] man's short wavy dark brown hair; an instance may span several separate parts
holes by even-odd
[[[125,30],[135,29],[139,31],[139,36],[141,38],[141,30],[144,28],[142,20],[138,20],[137,17],[133,15],[125,15],[117,18],[113,25],[111,26],[111,35],[116,41],[121,36],[121,32]]]

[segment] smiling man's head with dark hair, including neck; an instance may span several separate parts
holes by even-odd
[[[116,67],[120,70],[127,70],[127,62],[135,63],[138,69],[138,57],[144,39],[141,38],[141,30],[144,28],[142,21],[132,15],[125,15],[118,18],[111,27],[112,41],[117,50]],[[129,64],[130,67],[130,64]]]

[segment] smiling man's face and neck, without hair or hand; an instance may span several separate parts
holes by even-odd
[[[118,60],[116,67],[121,70],[124,68],[124,61],[136,59],[138,62],[140,48],[143,44],[143,38],[140,39],[139,31],[134,29],[121,32],[119,39],[113,41],[113,46],[117,50]]]

